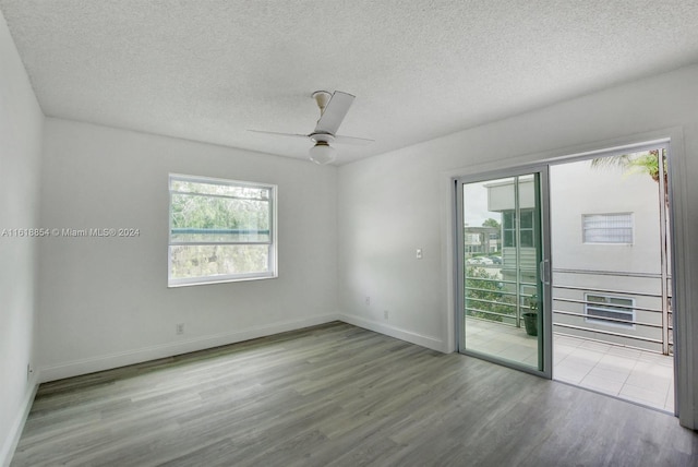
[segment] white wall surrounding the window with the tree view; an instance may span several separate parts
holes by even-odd
[[[44,381],[337,318],[335,167],[59,119],[45,135],[41,225],[140,237],[41,242]],[[169,172],[278,184],[279,277],[168,289]]]

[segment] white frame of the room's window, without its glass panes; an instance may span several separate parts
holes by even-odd
[[[196,246],[196,244],[212,244],[212,242],[201,241],[201,242],[174,242],[172,241],[172,193],[185,194],[181,192],[174,192],[171,189],[172,181],[188,181],[194,183],[207,183],[207,184],[218,184],[218,185],[230,185],[230,187],[245,187],[245,188],[256,188],[256,189],[265,189],[269,192],[269,241],[264,242],[262,244],[268,244],[268,260],[267,260],[267,270],[260,273],[246,273],[246,274],[217,274],[210,276],[197,276],[197,277],[180,277],[173,278],[171,277],[172,272],[172,255],[171,248],[174,246],[186,244],[186,246]],[[168,287],[183,287],[183,286],[195,286],[195,285],[206,285],[206,284],[221,284],[221,283],[233,283],[233,282],[242,282],[242,280],[258,280],[258,279],[270,279],[278,277],[278,266],[277,266],[277,191],[278,187],[276,184],[269,183],[257,183],[250,181],[241,181],[241,180],[229,180],[229,179],[220,179],[220,178],[212,178],[212,177],[202,177],[202,176],[190,176],[182,173],[169,173],[168,177],[168,251],[167,251],[167,285]],[[245,242],[245,241],[215,241],[214,244],[260,244],[260,242]]]

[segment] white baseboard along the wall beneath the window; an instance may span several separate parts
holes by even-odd
[[[321,314],[301,320],[285,321],[281,323],[265,324],[249,327],[246,330],[234,333],[221,333],[196,337],[188,340],[178,340],[176,343],[167,343],[163,345],[145,347],[137,350],[124,351],[112,355],[98,356],[74,360],[53,367],[41,368],[40,382],[60,380],[63,378],[76,376],[80,374],[94,373],[96,371],[109,370],[112,368],[125,367],[128,364],[140,363],[158,358],[166,358],[191,351],[203,350],[212,347],[222,346],[227,344],[240,343],[243,340],[254,339],[257,337],[269,336],[273,334],[285,333],[287,331],[300,330],[303,327],[314,326],[317,324],[329,323],[339,320],[337,314]]]

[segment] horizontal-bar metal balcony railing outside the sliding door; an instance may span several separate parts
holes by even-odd
[[[552,286],[556,334],[673,354],[671,276],[581,270],[557,270],[554,273],[564,273],[568,283],[554,282]],[[589,280],[580,278],[581,275],[613,276],[616,280],[623,279],[626,287],[586,286],[583,284]],[[574,277],[577,280],[573,280]],[[642,284],[647,285],[648,280],[652,283],[651,289],[659,291],[642,290]],[[613,283],[611,279],[607,282]],[[637,288],[631,289],[628,285]],[[535,290],[535,284],[530,282],[466,276],[466,315],[521,327],[521,314],[530,311],[531,300],[534,300],[532,290]],[[601,303],[589,300],[589,296],[609,297],[616,302]],[[631,301],[631,304],[623,304],[622,299]],[[590,310],[605,310],[609,315],[590,314]],[[628,312],[627,318],[617,316],[624,314],[623,311]]]

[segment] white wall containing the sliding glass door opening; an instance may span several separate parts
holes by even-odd
[[[662,129],[672,130],[662,130]],[[682,136],[683,134],[683,136]],[[636,136],[634,136],[636,135]],[[683,211],[676,251],[684,279],[698,277],[698,67],[629,83],[339,168],[339,308],[342,319],[407,340],[453,350],[450,178],[601,149],[636,137],[673,141],[674,206]],[[414,249],[423,249],[417,260]],[[681,277],[677,282],[681,282]],[[690,287],[682,287],[691,324]],[[363,297],[371,296],[365,304]],[[388,320],[383,310],[389,310]],[[686,349],[684,349],[686,351]],[[696,359],[698,361],[698,359]],[[682,368],[682,422],[698,421],[691,366]],[[679,400],[681,402],[681,400]]]

